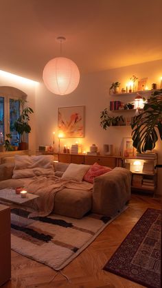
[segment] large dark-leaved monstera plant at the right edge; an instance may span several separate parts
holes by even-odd
[[[162,89],[152,93],[143,112],[133,118],[131,127],[133,146],[139,153],[152,150],[159,136],[162,140]]]

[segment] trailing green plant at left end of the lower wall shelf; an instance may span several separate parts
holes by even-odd
[[[104,130],[107,129],[109,126],[117,126],[117,125],[124,125],[125,121],[122,115],[117,116],[117,117],[111,117],[108,115],[108,109],[105,108],[104,111],[101,112],[100,115],[100,126]]]

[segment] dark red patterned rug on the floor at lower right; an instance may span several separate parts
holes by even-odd
[[[148,288],[161,287],[161,210],[146,210],[104,270]]]

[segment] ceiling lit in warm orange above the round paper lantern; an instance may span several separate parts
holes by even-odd
[[[62,56],[82,74],[162,58],[161,0],[1,0],[0,69],[42,80]]]

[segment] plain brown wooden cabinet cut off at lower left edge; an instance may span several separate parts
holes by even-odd
[[[11,277],[10,208],[0,204],[0,286]]]

